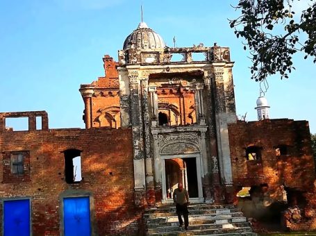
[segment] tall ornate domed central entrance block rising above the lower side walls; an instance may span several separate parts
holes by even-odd
[[[181,174],[167,171],[170,160],[187,164],[182,180],[194,201],[220,201],[222,192],[232,186],[227,127],[237,120],[229,49],[216,44],[165,47],[162,37],[142,22],[119,50],[119,62],[109,62],[117,71],[108,68],[106,58],[110,57],[103,59],[106,77],[81,85],[85,124],[132,128],[139,202],[169,201],[168,193],[181,180]],[[119,85],[110,96],[108,74]],[[171,163],[177,166],[176,161]]]

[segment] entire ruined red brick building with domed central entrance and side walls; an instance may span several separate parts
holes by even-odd
[[[80,87],[85,129],[0,113],[4,235],[17,208],[33,235],[142,235],[144,209],[171,203],[178,182],[192,203],[237,203],[251,187],[265,207],[285,204],[283,226],[316,228],[308,122],[268,119],[264,99],[259,121],[239,121],[228,47],[167,47],[141,22],[118,54]],[[28,117],[28,131],[7,128],[8,117]]]

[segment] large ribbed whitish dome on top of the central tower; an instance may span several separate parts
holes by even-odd
[[[164,49],[165,42],[163,38],[147,26],[145,22],[140,22],[124,41],[123,50],[126,49]]]

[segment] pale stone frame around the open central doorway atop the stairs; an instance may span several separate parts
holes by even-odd
[[[199,192],[199,197],[190,198],[190,203],[203,203],[203,189],[202,189],[202,162],[200,153],[192,153],[192,154],[183,154],[183,155],[160,155],[161,160],[163,160],[163,171],[162,171],[162,180],[163,180],[163,199],[161,203],[172,203],[172,199],[167,199],[167,189],[166,189],[166,169],[165,169],[165,160],[173,159],[173,158],[195,158],[195,162],[197,164],[197,189]]]

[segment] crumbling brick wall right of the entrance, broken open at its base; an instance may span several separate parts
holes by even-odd
[[[256,189],[239,202],[245,214],[256,219],[276,214],[285,228],[315,229],[315,164],[308,122],[238,121],[228,125],[228,134],[235,192],[241,187]],[[258,153],[249,156],[249,147]]]

